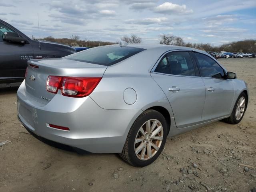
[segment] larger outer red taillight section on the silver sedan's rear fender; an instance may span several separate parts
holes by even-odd
[[[85,97],[92,93],[101,77],[63,77],[61,93],[69,97]]]

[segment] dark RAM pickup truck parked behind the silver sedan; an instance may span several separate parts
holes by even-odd
[[[76,50],[64,44],[30,39],[0,20],[0,83],[24,80],[30,59],[60,58]]]

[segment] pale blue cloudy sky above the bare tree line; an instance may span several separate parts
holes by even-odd
[[[156,44],[173,34],[216,46],[256,39],[256,0],[1,0],[0,19],[35,38],[116,42],[134,33]]]

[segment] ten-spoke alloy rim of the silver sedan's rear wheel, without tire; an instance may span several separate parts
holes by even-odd
[[[152,158],[159,150],[164,136],[164,129],[160,121],[150,119],[146,121],[138,130],[134,151],[140,160]]]

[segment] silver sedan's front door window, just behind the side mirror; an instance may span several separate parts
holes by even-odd
[[[198,68],[201,77],[225,77],[223,68],[218,63],[216,63],[216,61],[214,61],[212,58],[201,53],[194,53],[194,55],[198,61]]]

